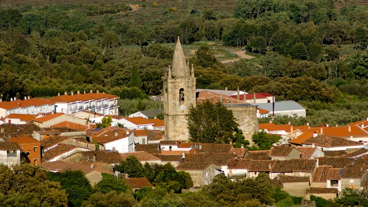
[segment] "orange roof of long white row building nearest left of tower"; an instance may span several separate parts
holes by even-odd
[[[72,102],[85,102],[89,100],[102,100],[102,99],[119,99],[119,96],[110,95],[106,93],[82,93],[82,94],[73,94],[73,95],[61,95],[55,96],[48,99],[54,103],[72,103]]]

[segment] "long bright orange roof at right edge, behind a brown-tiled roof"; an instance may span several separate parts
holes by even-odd
[[[321,131],[322,129],[322,131]],[[311,127],[309,129],[301,129],[302,132],[317,132],[318,134],[325,134],[333,137],[349,138],[351,136],[365,136],[368,132],[362,129],[360,126],[332,126],[332,127]]]

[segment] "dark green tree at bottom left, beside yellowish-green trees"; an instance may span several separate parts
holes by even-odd
[[[68,206],[80,207],[93,193],[92,186],[82,171],[49,172],[47,178],[60,182],[68,194]]]

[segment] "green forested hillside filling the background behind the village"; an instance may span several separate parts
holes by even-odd
[[[367,10],[349,0],[2,0],[0,94],[146,99],[161,94],[180,36],[198,88],[268,92],[305,104],[311,124],[348,124],[368,116]],[[219,61],[236,48],[256,58]]]

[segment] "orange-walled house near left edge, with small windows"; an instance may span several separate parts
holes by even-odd
[[[41,142],[28,136],[12,137],[11,142],[16,142],[21,148],[21,158],[24,156],[25,161],[29,161],[31,165],[41,163]]]

